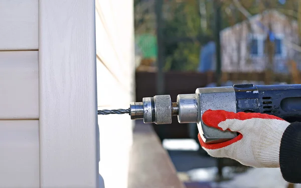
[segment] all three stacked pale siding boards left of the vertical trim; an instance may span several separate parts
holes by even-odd
[[[38,0],[0,0],[0,187],[39,187]]]

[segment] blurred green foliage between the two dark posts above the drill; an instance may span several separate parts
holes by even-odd
[[[168,38],[175,38],[197,36],[202,33],[198,3],[199,0],[180,2],[172,0],[166,3],[165,5],[170,7],[173,15],[165,20],[164,35]],[[208,28],[209,23],[205,28]],[[199,64],[199,53],[200,43],[197,40],[168,44],[165,70],[196,70]]]

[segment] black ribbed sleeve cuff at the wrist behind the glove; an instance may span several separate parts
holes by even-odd
[[[285,129],[279,151],[280,170],[290,183],[301,183],[301,122],[293,122]]]

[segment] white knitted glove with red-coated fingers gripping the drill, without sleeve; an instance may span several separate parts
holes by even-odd
[[[202,147],[214,157],[228,157],[253,167],[279,167],[279,147],[289,123],[274,115],[262,113],[207,110],[202,120],[208,126],[240,134],[221,143],[204,143]]]

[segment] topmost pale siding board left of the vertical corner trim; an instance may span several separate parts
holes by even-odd
[[[38,49],[38,0],[0,0],[0,50]]]

